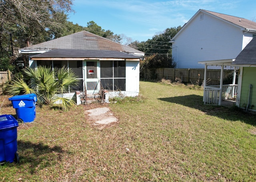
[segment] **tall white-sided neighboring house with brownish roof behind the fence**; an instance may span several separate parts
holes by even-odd
[[[177,68],[204,68],[198,62],[235,59],[253,37],[256,22],[198,10],[171,39],[172,58]]]

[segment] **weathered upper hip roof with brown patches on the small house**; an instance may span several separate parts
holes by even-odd
[[[122,51],[130,54],[144,54],[141,51],[116,43],[104,37],[100,37],[88,31],[80,31],[71,35],[66,35],[57,39],[31,45],[19,49],[22,53],[26,51],[40,51],[52,49],[76,49],[76,50],[108,50],[108,51]]]

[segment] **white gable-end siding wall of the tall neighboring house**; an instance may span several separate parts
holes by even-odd
[[[242,51],[240,28],[209,16],[198,14],[173,43],[173,58],[177,68],[204,68],[198,61],[235,59]]]

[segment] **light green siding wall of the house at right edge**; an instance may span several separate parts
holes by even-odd
[[[240,95],[240,107],[246,108],[248,105],[250,84],[252,84],[251,106],[252,110],[256,110],[256,67],[243,67],[241,95]],[[251,109],[251,108],[249,108]]]

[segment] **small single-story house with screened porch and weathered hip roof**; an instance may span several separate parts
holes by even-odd
[[[65,65],[72,69],[79,80],[74,91],[96,94],[102,85],[110,97],[139,94],[139,63],[144,53],[88,31],[30,45],[19,53],[28,54],[30,68]]]

